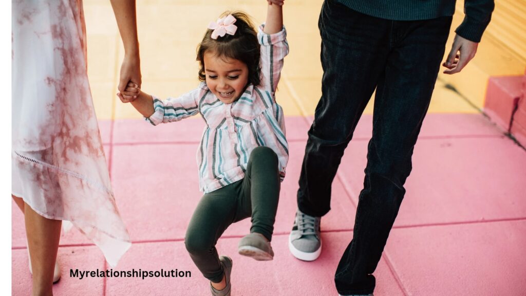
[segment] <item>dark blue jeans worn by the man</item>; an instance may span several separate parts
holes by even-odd
[[[372,139],[352,241],[335,275],[340,294],[375,289],[375,271],[405,193],[411,156],[426,116],[451,16],[390,21],[323,3],[322,95],[308,132],[299,209],[330,210],[331,183],[356,124],[376,88]]]

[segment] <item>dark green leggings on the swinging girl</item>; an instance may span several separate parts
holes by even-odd
[[[216,243],[230,224],[251,216],[250,232],[271,240],[279,189],[278,156],[260,146],[250,153],[244,179],[203,195],[186,230],[185,245],[205,278],[216,283],[223,278]]]

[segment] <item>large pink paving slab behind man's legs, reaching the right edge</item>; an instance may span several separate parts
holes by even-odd
[[[351,141],[337,175],[355,203],[367,143]],[[526,153],[508,138],[420,139],[412,163],[395,226],[526,218]]]

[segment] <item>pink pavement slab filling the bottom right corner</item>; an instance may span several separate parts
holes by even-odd
[[[406,295],[519,296],[526,291],[524,233],[524,219],[393,229],[385,253]]]

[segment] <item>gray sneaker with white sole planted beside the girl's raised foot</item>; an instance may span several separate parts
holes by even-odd
[[[289,250],[296,258],[314,261],[321,254],[320,217],[296,211],[294,226],[289,235]]]

